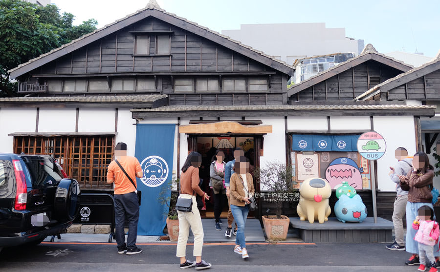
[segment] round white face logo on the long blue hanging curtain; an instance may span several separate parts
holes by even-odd
[[[148,187],[162,185],[168,177],[168,164],[159,156],[150,156],[141,163],[144,176],[141,178],[143,184]]]

